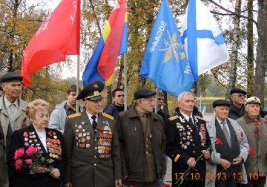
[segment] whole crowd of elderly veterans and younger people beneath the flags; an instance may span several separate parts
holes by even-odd
[[[230,91],[231,102],[214,101],[206,123],[192,92],[178,96],[170,117],[163,93],[147,88],[127,110],[117,88],[103,109],[104,84],[93,81],[79,94],[71,85],[51,113],[42,99],[20,98],[22,80],[14,72],[0,78],[0,187],[160,187],[168,158],[171,186],[265,185],[267,120],[260,99],[245,100],[242,89]]]

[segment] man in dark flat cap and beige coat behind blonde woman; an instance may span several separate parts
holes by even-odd
[[[5,91],[5,95],[0,98],[0,122],[4,132],[6,153],[9,151],[10,140],[14,130],[29,125],[29,120],[25,113],[28,103],[19,98],[22,91],[22,80],[23,77],[14,72],[8,72],[0,78],[1,86]],[[9,180],[12,175],[13,172],[9,170]]]

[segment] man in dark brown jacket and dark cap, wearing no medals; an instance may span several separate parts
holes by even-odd
[[[127,186],[156,187],[166,173],[163,120],[152,113],[155,95],[155,91],[140,88],[134,94],[135,106],[122,111],[116,120]]]

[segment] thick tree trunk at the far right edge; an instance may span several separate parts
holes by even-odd
[[[264,78],[267,62],[267,1],[259,0],[258,46],[253,95],[264,101]],[[262,107],[264,104],[261,105]]]

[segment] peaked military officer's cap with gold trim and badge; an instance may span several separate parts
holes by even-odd
[[[97,101],[102,99],[101,91],[104,89],[104,84],[101,81],[92,81],[87,84],[80,94],[77,96],[77,100],[83,99],[89,101]]]

